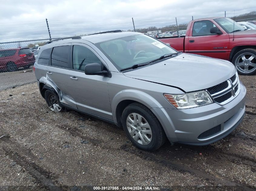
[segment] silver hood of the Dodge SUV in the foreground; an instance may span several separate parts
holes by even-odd
[[[236,69],[231,62],[182,53],[123,74],[130,78],[174,86],[190,92],[220,84],[235,73]]]

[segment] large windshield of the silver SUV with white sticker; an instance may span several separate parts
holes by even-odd
[[[112,39],[96,43],[95,46],[119,71],[135,64],[151,62],[166,54],[178,53],[165,43],[144,34]]]

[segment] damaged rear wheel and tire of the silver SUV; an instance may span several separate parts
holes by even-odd
[[[49,106],[50,110],[52,110],[54,112],[62,111],[63,107],[61,107],[59,105],[60,101],[58,98],[58,94],[56,94],[50,90],[46,90],[45,91],[45,101],[46,101],[47,105]]]

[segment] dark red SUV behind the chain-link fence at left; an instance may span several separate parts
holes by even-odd
[[[29,68],[35,63],[35,56],[29,48],[0,50],[0,70],[14,72],[18,68]]]

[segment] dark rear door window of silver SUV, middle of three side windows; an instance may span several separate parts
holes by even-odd
[[[70,46],[56,46],[52,50],[52,66],[68,68]]]

